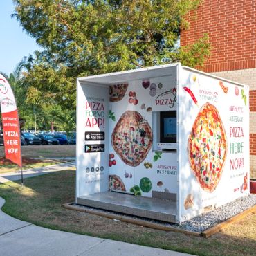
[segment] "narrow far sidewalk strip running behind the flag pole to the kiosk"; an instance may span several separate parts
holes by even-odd
[[[57,165],[48,165],[45,167],[30,168],[23,170],[24,179],[38,176],[42,174],[48,174],[51,172],[60,172],[63,170],[75,170],[75,161],[59,163]],[[0,174],[0,183],[6,183],[8,181],[18,181],[21,179],[21,171],[17,172],[6,172]]]

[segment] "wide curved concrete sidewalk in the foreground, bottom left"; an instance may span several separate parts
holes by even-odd
[[[5,203],[0,197],[0,208]],[[6,256],[185,256],[170,250],[50,230],[19,221],[0,210],[0,255]]]

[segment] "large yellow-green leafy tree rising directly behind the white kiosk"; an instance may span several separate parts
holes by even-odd
[[[201,0],[14,0],[14,16],[44,51],[26,74],[28,100],[75,109],[75,79],[182,62],[203,64],[208,37],[177,48]]]

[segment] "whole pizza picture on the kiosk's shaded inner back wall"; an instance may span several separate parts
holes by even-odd
[[[111,144],[122,161],[138,166],[152,147],[152,129],[137,111],[126,111],[113,129]]]

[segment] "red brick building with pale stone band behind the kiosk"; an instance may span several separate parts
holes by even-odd
[[[204,0],[188,21],[181,46],[210,37],[211,56],[201,70],[250,86],[250,176],[256,179],[256,1]]]

